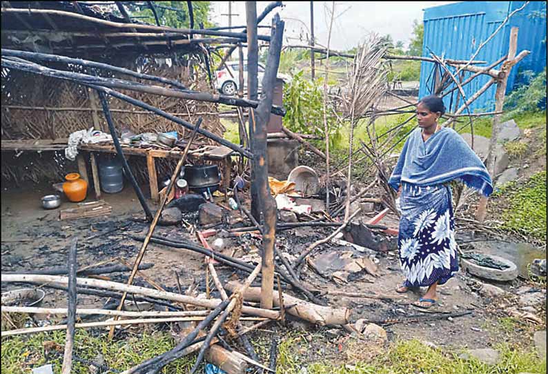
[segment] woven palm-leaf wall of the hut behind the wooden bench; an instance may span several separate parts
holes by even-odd
[[[187,87],[200,91],[208,91],[207,80],[202,75],[189,76],[186,66],[175,64],[167,66],[164,59],[139,57],[135,61],[104,61],[116,66],[124,66],[132,70],[146,72],[170,79],[177,79]],[[97,74],[102,77],[115,77],[110,72],[88,71],[79,66],[52,66],[62,70]],[[117,75],[121,79],[133,79],[126,75]],[[159,84],[141,81],[147,84]],[[202,116],[202,128],[217,135],[224,133],[224,127],[219,121],[217,104],[198,101],[187,101],[172,97],[148,95],[141,92],[124,91],[124,94],[177,115],[190,122],[195,122]],[[59,139],[68,138],[71,132],[91,127],[108,132],[101,105],[96,92],[77,83],[32,75],[17,70],[2,71],[1,98],[1,135],[2,139]],[[117,130],[128,128],[136,134],[141,132],[163,132],[176,130],[179,137],[186,137],[188,130],[157,115],[148,114],[124,101],[110,99],[112,118]],[[197,142],[213,144],[205,137],[198,137]],[[168,175],[173,168],[173,160],[157,162],[160,176]],[[172,166],[169,166],[172,165]],[[131,157],[130,166],[135,171],[135,177],[141,182],[147,181],[146,161],[142,157]],[[2,182],[3,185],[22,184],[26,181],[61,181],[63,175],[77,170],[74,162],[68,161],[64,153],[57,152],[3,152]],[[6,184],[8,182],[8,184]]]

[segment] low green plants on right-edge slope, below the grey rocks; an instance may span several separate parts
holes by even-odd
[[[506,184],[495,196],[509,201],[502,213],[502,228],[546,241],[546,170],[533,175],[523,186],[516,181]]]

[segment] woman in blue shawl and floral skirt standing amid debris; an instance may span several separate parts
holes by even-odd
[[[491,177],[476,153],[451,128],[438,124],[442,99],[424,97],[417,106],[418,128],[404,144],[389,184],[400,195],[400,264],[405,281],[396,289],[428,287],[415,306],[436,303],[436,287],[458,271],[455,223],[451,205],[453,179],[485,196],[493,192]]]

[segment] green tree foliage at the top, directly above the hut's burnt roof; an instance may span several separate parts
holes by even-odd
[[[170,28],[189,28],[190,17],[188,17],[188,7],[186,1],[153,1],[158,14],[161,26]],[[146,4],[124,3],[130,12],[130,16],[139,17],[139,21],[144,21],[155,25],[154,14]],[[193,1],[194,28],[199,28],[204,24],[204,28],[212,27],[214,24],[209,21],[210,1]]]

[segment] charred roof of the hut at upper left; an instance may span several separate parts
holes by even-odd
[[[194,30],[128,23],[82,1],[2,1],[1,24],[2,48],[77,57],[186,53],[210,41],[190,39]]]

